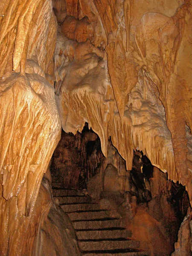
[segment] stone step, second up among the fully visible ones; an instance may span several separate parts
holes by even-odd
[[[130,230],[125,230],[124,228],[116,228],[109,230],[90,230],[90,231],[77,231],[77,238],[81,239],[115,239],[119,237],[128,238],[131,236]]]

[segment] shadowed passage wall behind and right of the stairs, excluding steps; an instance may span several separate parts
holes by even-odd
[[[101,204],[107,202],[125,226],[134,230],[144,249],[163,250],[165,256],[174,250],[189,207],[188,194],[184,186],[152,166],[143,152],[134,151],[132,170],[126,171],[125,160],[111,141],[105,158],[99,137],[86,124],[75,136],[62,131],[50,172],[52,187],[84,189]]]

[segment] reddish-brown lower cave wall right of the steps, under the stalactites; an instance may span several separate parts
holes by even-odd
[[[139,240],[143,250],[151,255],[169,256],[188,207],[190,214],[185,187],[168,180],[167,174],[152,166],[141,151],[134,152],[132,169],[126,171],[125,160],[111,145],[100,166],[88,179],[88,195],[102,207],[110,207],[111,217],[121,216],[132,239]],[[190,245],[189,230],[183,228],[188,234],[188,241],[183,243],[186,247]],[[190,250],[181,255],[190,255]]]

